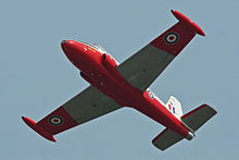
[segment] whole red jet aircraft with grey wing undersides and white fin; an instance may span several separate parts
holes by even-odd
[[[23,121],[45,138],[55,141],[53,135],[123,107],[131,107],[166,127],[152,140],[156,148],[164,150],[184,138],[191,140],[194,132],[216,111],[202,104],[183,115],[180,102],[175,97],[164,104],[149,89],[196,34],[205,36],[184,14],[175,10],[172,13],[178,22],[122,64],[99,45],[63,40],[64,53],[90,86],[39,122],[26,116]]]

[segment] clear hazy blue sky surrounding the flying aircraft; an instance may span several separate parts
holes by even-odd
[[[0,5],[0,159],[4,160],[236,160],[239,151],[239,1],[209,0],[8,0]],[[64,132],[51,143],[29,130],[88,84],[61,50],[61,40],[99,44],[118,62],[177,20],[178,10],[199,24],[197,36],[151,85],[183,111],[209,103],[217,114],[196,134],[165,151],[151,140],[164,127],[122,109]]]

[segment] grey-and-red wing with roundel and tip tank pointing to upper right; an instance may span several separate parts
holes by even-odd
[[[141,91],[152,84],[196,34],[204,36],[202,29],[188,17],[177,11],[172,12],[179,22],[117,67],[123,77]]]

